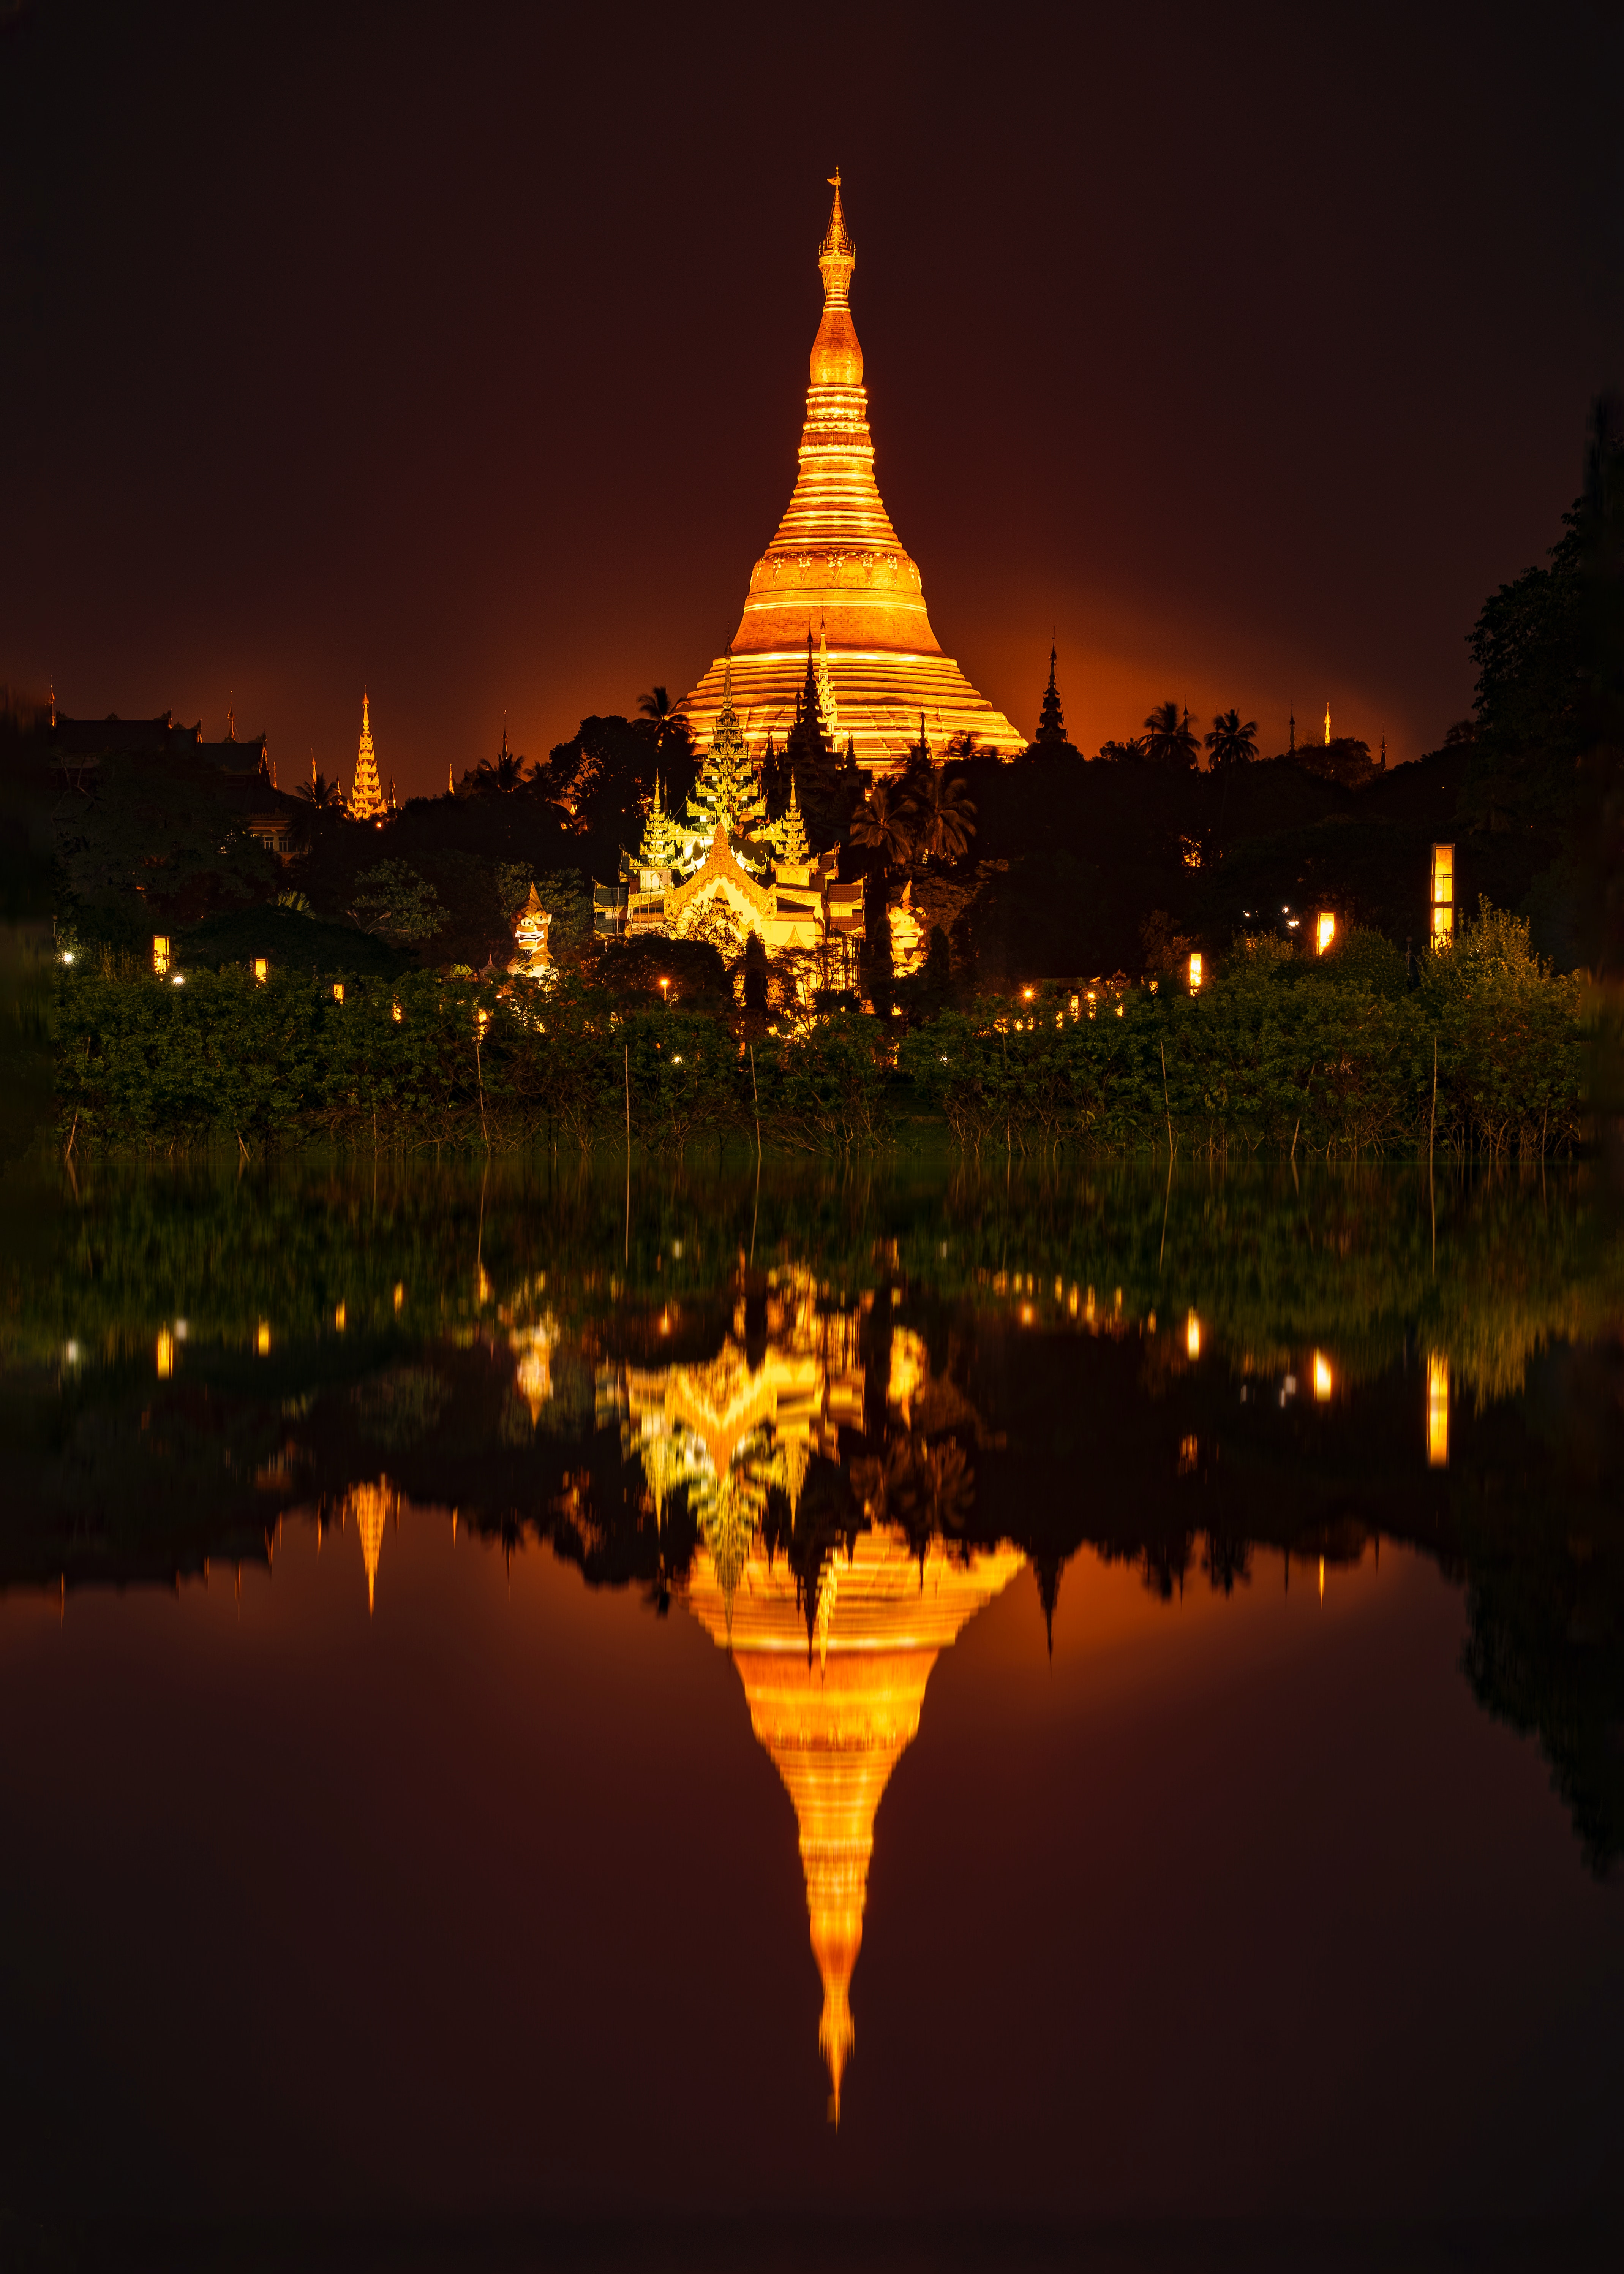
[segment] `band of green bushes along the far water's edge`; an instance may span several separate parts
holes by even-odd
[[[967,1153],[1553,1157],[1585,1128],[1585,1007],[1494,910],[1419,960],[1237,939],[1196,989],[1049,985],[769,1016],[696,991],[494,973],[161,982],[64,969],[64,1151],[728,1144]]]

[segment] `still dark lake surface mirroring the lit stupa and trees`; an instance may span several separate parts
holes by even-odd
[[[1581,1176],[100,1171],[5,1255],[16,2249],[1606,2219]]]

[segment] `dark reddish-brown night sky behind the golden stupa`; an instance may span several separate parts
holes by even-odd
[[[0,0],[0,680],[439,789],[687,691],[789,498],[826,175],[942,646],[1394,757],[1624,375],[1617,7]]]

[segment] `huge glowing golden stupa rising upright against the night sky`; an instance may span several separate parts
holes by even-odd
[[[839,168],[830,180],[835,209],[817,257],[823,321],[812,341],[801,473],[778,534],[751,571],[730,650],[732,700],[753,755],[769,735],[782,744],[805,687],[810,637],[819,646],[819,691],[826,680],[832,696],[819,703],[826,737],[839,750],[851,741],[869,771],[908,757],[921,714],[935,755],[969,732],[983,748],[1012,757],[1026,737],[942,653],[919,566],[896,541],[873,480],[869,393],[848,296],[857,248],[839,205]],[[719,655],[680,705],[701,750],[710,748],[721,714],[726,662]]]

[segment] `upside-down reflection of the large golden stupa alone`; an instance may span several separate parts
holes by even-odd
[[[851,1974],[862,1949],[873,1817],[892,1769],[919,1733],[937,1655],[1021,1569],[1019,1549],[964,1560],[933,1542],[923,1569],[901,1530],[862,1533],[851,1560],[823,1567],[807,1658],[796,1576],[755,1539],[744,1569],[694,1558],[689,1610],[732,1651],[751,1728],[796,1810],[812,1953],[823,1976],[819,2047],[830,2117],[853,2047]]]

